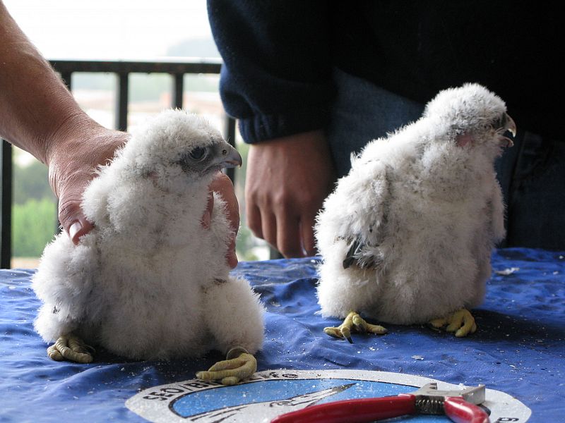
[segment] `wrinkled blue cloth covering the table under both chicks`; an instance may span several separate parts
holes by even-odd
[[[565,421],[565,253],[494,252],[493,268],[502,274],[493,273],[473,313],[479,329],[468,338],[385,325],[387,335],[354,335],[352,345],[323,333],[340,321],[316,313],[316,260],[242,262],[234,269],[267,309],[258,371],[364,369],[485,384],[530,407],[529,422]],[[92,364],[53,362],[32,326],[40,305],[30,288],[33,273],[0,271],[0,422],[143,422],[126,400],[194,379],[222,359],[210,352],[198,360],[137,362],[102,351]]]

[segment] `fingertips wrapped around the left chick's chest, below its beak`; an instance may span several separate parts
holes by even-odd
[[[225,173],[218,172],[218,175],[214,178],[208,189],[211,192],[218,192],[222,196],[222,199],[226,202],[227,207],[227,219],[230,221],[232,226],[233,235],[230,239],[230,245],[227,248],[227,264],[230,268],[234,269],[237,266],[237,255],[235,253],[235,238],[237,237],[237,231],[239,230],[239,204],[237,202],[237,197],[234,192],[234,185],[230,178],[227,177]],[[206,207],[206,212],[202,216],[202,225],[204,228],[210,227],[210,216],[214,207],[214,196],[210,195],[208,197],[208,206]]]

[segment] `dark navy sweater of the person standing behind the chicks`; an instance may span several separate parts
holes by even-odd
[[[480,82],[521,130],[561,120],[559,13],[516,1],[208,0],[220,94],[246,142],[323,128],[333,67],[425,103]]]

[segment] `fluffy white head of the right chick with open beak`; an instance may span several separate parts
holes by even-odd
[[[506,104],[494,92],[479,84],[443,90],[426,106],[424,118],[447,128],[460,147],[465,145],[511,147],[506,131],[516,135],[516,124],[506,113]]]

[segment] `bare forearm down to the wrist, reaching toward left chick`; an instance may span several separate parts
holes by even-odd
[[[0,0],[0,136],[45,164],[75,134],[99,128]]]

